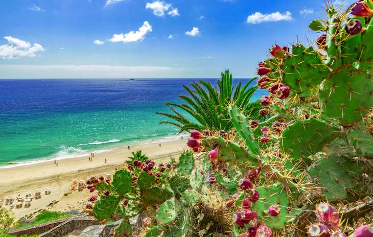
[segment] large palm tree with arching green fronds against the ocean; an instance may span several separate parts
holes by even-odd
[[[230,130],[233,125],[227,111],[229,104],[236,104],[244,111],[246,116],[256,118],[262,105],[255,101],[250,102],[252,94],[258,89],[258,85],[249,87],[249,84],[258,78],[253,78],[244,85],[240,81],[237,86],[232,85],[232,75],[229,70],[221,73],[221,80],[216,81],[218,87],[213,87],[211,83],[205,81],[193,82],[191,86],[182,85],[190,96],[179,96],[186,104],[165,103],[175,114],[156,113],[165,115],[175,120],[175,122],[164,121],[159,124],[172,124],[183,131],[204,129]],[[204,88],[203,88],[204,87]],[[194,121],[177,111],[179,108],[194,118]],[[196,122],[195,122],[196,121]]]

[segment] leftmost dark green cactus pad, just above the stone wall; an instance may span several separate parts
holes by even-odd
[[[118,205],[120,201],[121,199],[118,196],[101,196],[100,199],[96,201],[93,209],[95,218],[99,221],[103,221],[106,218],[111,217],[114,214],[116,205]]]

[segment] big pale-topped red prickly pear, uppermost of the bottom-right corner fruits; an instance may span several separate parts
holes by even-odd
[[[326,224],[332,230],[338,231],[339,216],[338,211],[329,203],[323,202],[316,207],[316,217],[321,223]]]

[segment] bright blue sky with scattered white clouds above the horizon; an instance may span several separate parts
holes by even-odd
[[[308,24],[322,6],[323,0],[0,1],[0,79],[219,78],[225,69],[252,78],[275,43],[317,38]]]

